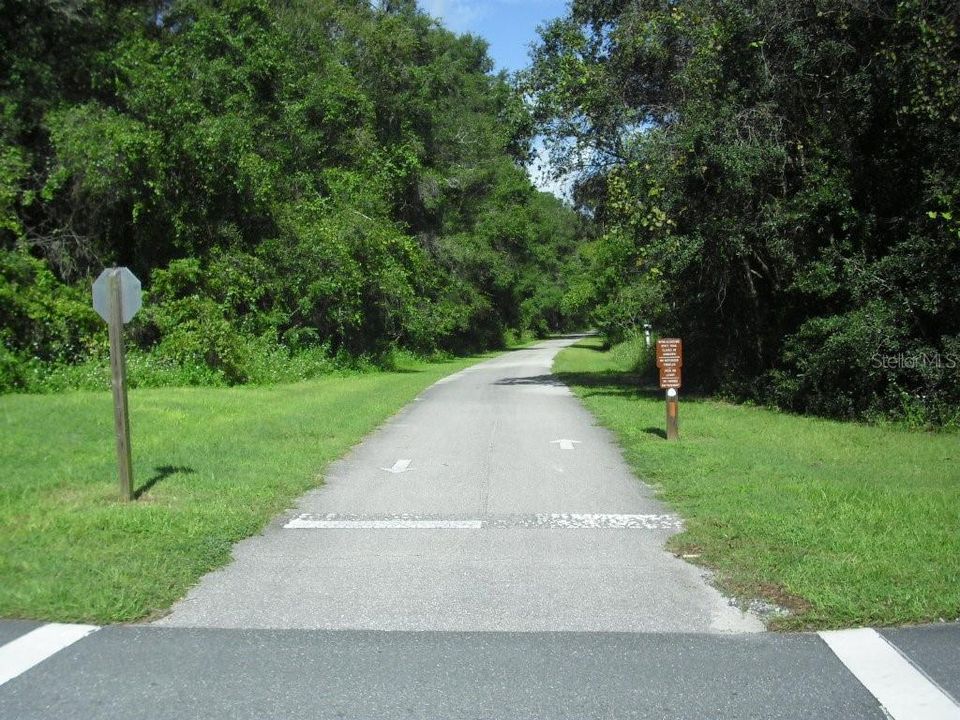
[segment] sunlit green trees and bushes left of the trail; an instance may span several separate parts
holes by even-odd
[[[103,364],[111,264],[147,288],[147,384],[561,327],[581,221],[532,187],[491,69],[413,0],[4,2],[0,390]]]

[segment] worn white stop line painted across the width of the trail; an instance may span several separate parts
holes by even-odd
[[[450,517],[427,515],[303,514],[284,525],[288,530],[680,530],[676,515],[617,513],[540,513]]]

